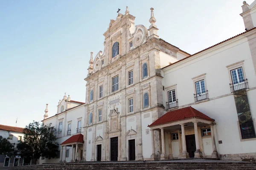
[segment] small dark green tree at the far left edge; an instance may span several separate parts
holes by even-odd
[[[9,157],[16,155],[15,144],[12,144],[3,136],[0,136],[0,155],[7,155]]]

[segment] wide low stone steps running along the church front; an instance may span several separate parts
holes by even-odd
[[[256,170],[256,162],[220,160],[106,161],[28,165],[15,170]]]

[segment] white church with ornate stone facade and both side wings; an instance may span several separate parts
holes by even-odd
[[[245,32],[193,55],[159,38],[150,10],[149,28],[128,7],[111,20],[85,103],[65,94],[46,108],[60,146],[40,163],[256,159],[256,1],[243,3]]]

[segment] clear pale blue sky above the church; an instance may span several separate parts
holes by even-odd
[[[85,102],[90,51],[103,51],[117,9],[129,7],[147,28],[154,8],[160,38],[193,54],[244,31],[243,0],[1,0],[0,124],[41,121],[46,103],[55,115],[70,94]],[[247,0],[250,5],[253,0]]]

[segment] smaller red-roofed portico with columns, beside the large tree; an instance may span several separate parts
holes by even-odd
[[[60,161],[59,162],[67,162],[66,161],[66,153],[67,153],[67,147],[71,147],[71,151],[69,154],[71,155],[70,162],[74,161],[81,161],[81,153],[83,149],[83,140],[84,136],[82,134],[77,134],[71,136],[69,139],[61,143],[61,150],[60,150]],[[64,152],[64,154],[63,154]],[[64,158],[63,158],[64,155]],[[63,160],[64,159],[64,160]]]

